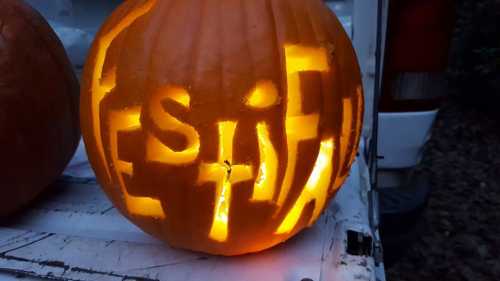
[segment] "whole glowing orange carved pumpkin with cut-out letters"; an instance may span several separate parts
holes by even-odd
[[[261,251],[310,226],[355,158],[363,94],[320,0],[130,0],[88,58],[81,125],[117,208],[174,247]]]

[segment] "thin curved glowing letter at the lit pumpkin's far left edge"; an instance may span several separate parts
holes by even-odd
[[[154,6],[156,0],[149,0],[144,5],[134,9],[130,14],[125,16],[116,26],[113,27],[107,34],[104,34],[97,43],[97,53],[95,58],[94,73],[92,75],[92,97],[91,97],[91,110],[92,110],[92,125],[94,128],[94,137],[96,140],[97,151],[100,154],[104,163],[106,163],[106,156],[104,154],[104,147],[102,145],[101,125],[99,122],[100,109],[102,99],[116,86],[116,70],[113,69],[109,73],[109,77],[103,79],[104,63],[108,48],[113,40],[127,27],[129,27],[139,17],[145,15]],[[108,178],[111,179],[111,173],[106,164],[104,168]]]

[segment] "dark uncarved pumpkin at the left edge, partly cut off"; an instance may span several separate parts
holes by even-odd
[[[0,0],[0,217],[31,201],[73,155],[78,80],[45,20]]]

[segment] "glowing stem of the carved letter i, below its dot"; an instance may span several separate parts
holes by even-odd
[[[260,167],[255,180],[252,200],[271,201],[276,190],[278,155],[269,137],[269,126],[265,122],[257,124]]]

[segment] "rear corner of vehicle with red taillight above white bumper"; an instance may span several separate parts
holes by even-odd
[[[452,0],[392,1],[379,99],[378,181],[386,265],[417,237],[431,192],[419,169],[440,99],[455,22]]]

